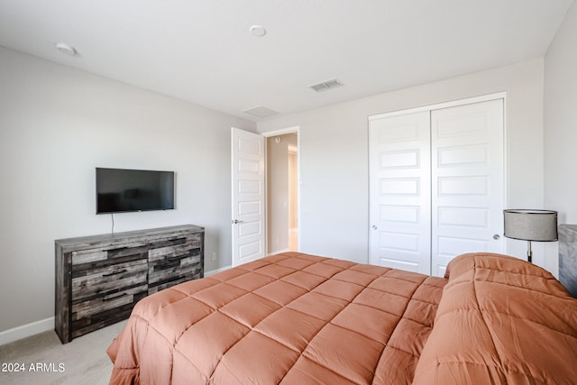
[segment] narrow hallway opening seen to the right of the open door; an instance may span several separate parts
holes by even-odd
[[[267,255],[298,251],[298,132],[266,138]]]

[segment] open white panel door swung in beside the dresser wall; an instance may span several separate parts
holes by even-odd
[[[265,255],[264,137],[232,129],[233,266]]]

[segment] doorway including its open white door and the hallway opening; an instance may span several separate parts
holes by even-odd
[[[299,131],[298,126],[261,134],[231,130],[233,266],[300,250]],[[274,158],[276,152],[285,154],[284,167],[275,167],[274,160],[267,164],[267,154]],[[286,188],[278,193],[279,186]]]

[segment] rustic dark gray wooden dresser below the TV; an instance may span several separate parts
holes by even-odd
[[[127,318],[149,294],[202,278],[204,243],[205,229],[196,225],[56,240],[60,341]]]

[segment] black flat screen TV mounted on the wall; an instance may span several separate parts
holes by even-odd
[[[96,214],[173,208],[173,171],[96,168]]]

